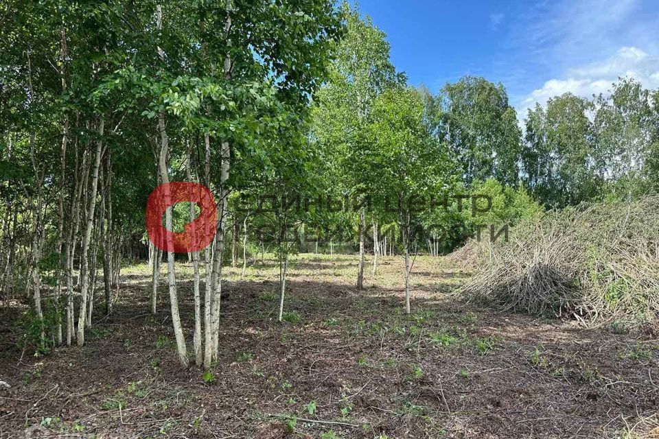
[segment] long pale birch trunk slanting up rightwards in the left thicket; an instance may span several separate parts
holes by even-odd
[[[98,134],[102,138],[105,126],[104,119],[101,119],[98,127]],[[78,346],[84,344],[84,323],[87,308],[87,292],[89,289],[89,241],[94,228],[94,211],[96,209],[96,191],[98,189],[98,170],[101,165],[101,156],[103,153],[103,140],[99,139],[96,143],[96,156],[93,170],[91,173],[91,190],[89,193],[89,206],[87,208],[86,228],[82,239],[82,253],[80,254],[82,272],[82,287],[80,290],[80,312],[78,313]]]

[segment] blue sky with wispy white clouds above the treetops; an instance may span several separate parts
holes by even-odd
[[[413,85],[462,75],[502,82],[527,107],[571,91],[605,93],[618,76],[659,87],[659,0],[360,0]]]

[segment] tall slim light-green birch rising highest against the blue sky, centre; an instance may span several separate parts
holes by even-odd
[[[315,101],[314,137],[327,149],[336,166],[335,182],[343,195],[362,202],[359,209],[359,267],[357,288],[364,284],[366,206],[362,152],[368,142],[366,128],[372,119],[373,101],[384,89],[404,82],[389,60],[389,43],[371,19],[363,19],[347,3],[341,8],[346,31],[336,45],[329,82]]]

